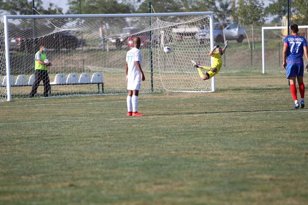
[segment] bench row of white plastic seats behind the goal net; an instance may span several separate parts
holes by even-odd
[[[27,75],[18,75],[15,81],[14,75],[10,76],[11,87],[23,87],[23,86],[32,86],[34,83],[35,75],[31,75],[28,79]],[[6,87],[7,84],[7,76],[4,76],[3,82],[1,84],[1,76],[0,76],[0,87]],[[67,85],[88,85],[88,84],[97,84],[98,92],[100,92],[100,84],[102,84],[102,93],[104,93],[104,80],[103,73],[93,73],[92,77],[90,73],[82,73],[80,77],[78,77],[77,73],[68,74],[67,78],[65,74],[58,73],[54,77],[54,81],[50,83],[50,86],[67,86]],[[40,84],[39,86],[43,86]]]

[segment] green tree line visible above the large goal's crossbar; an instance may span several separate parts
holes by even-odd
[[[53,3],[46,8],[42,0],[34,2],[40,14],[148,13],[151,2],[156,13],[214,11],[217,22],[231,21],[244,25],[264,24],[267,17],[278,23],[287,13],[285,0],[273,0],[267,6],[264,6],[263,0],[68,0],[69,9],[66,13]],[[306,24],[307,1],[289,0],[289,5],[291,15],[296,16],[293,20],[298,24]],[[32,0],[0,0],[0,13],[31,15]]]

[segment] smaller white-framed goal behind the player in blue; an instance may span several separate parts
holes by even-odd
[[[299,26],[299,35],[307,37],[307,28],[308,26]],[[269,87],[288,86],[287,79],[281,80],[285,77],[285,69],[282,67],[282,51],[286,29],[286,26],[262,27],[262,74],[268,79],[266,84]],[[307,79],[307,75],[304,75],[304,81]]]

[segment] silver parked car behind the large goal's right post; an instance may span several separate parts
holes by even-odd
[[[223,43],[223,28],[226,40],[237,40],[238,43],[242,43],[246,36],[246,29],[241,28],[237,22],[234,23],[215,23],[213,24],[213,35],[216,43]],[[200,44],[203,44],[206,39],[209,39],[209,29],[202,29],[196,34],[196,39],[200,40]]]

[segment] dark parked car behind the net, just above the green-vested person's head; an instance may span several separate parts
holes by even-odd
[[[40,38],[22,39],[20,47],[22,51],[32,51],[33,44],[36,45],[36,47],[45,44],[46,48],[56,50],[76,49],[77,47],[80,47],[82,43],[85,44],[84,41],[81,42],[78,36],[73,35],[68,31],[60,31]]]

